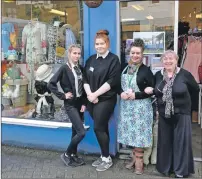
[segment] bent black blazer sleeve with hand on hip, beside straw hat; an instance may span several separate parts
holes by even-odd
[[[65,94],[58,91],[57,83],[61,80],[63,73],[63,67],[60,67],[60,69],[53,75],[53,77],[50,79],[48,83],[48,88],[50,91],[55,94],[59,99],[65,100]]]

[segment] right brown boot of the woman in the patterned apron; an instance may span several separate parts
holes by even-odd
[[[144,163],[143,163],[144,150],[141,148],[135,149],[135,173],[137,175],[143,174]]]

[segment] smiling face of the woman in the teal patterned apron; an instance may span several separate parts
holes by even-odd
[[[142,48],[141,47],[131,47],[130,49],[130,61],[134,64],[142,63]]]

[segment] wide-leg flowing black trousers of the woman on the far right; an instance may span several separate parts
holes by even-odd
[[[176,114],[171,119],[159,116],[157,165],[160,173],[194,173],[191,116]]]

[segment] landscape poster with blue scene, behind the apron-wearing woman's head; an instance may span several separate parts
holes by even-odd
[[[165,32],[133,32],[133,39],[141,38],[145,43],[144,54],[163,54]]]

